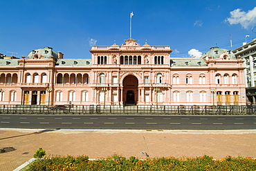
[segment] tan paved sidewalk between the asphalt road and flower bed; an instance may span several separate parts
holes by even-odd
[[[40,132],[41,131],[41,132]],[[256,130],[16,130],[0,129],[0,148],[17,150],[0,154],[0,170],[14,170],[33,158],[35,150],[46,154],[82,155],[90,159],[113,153],[125,157],[197,157],[214,159],[230,155],[256,157]]]

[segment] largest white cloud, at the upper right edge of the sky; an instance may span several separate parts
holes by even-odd
[[[241,24],[245,29],[250,26],[254,26],[256,23],[256,7],[253,10],[248,10],[248,12],[241,11],[240,8],[230,12],[230,17],[225,20],[226,22],[232,24]]]

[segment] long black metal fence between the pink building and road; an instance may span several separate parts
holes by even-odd
[[[0,105],[0,114],[256,114],[255,105]]]

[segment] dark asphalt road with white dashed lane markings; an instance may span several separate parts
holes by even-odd
[[[0,128],[246,130],[256,129],[256,116],[0,114]]]

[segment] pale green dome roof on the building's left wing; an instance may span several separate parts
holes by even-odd
[[[57,61],[58,53],[55,52],[51,47],[46,46],[41,49],[32,50],[31,52],[29,52],[27,58],[33,58],[35,53],[42,54],[43,57],[49,58],[49,59],[51,59],[51,56],[53,56],[53,59]]]

